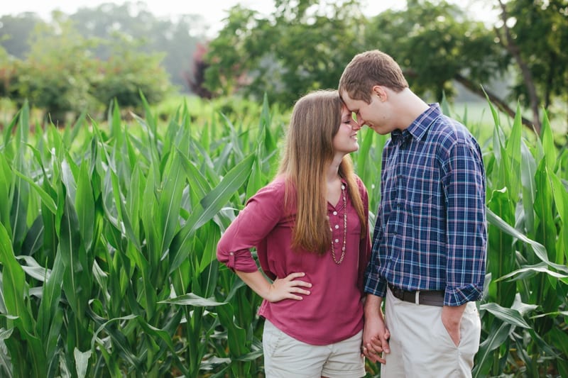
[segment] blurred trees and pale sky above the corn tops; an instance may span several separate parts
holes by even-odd
[[[84,111],[100,118],[114,99],[139,111],[140,93],[164,113],[185,96],[267,94],[289,109],[378,48],[428,101],[445,97],[487,121],[487,99],[510,116],[520,106],[537,131],[545,109],[555,130],[567,128],[566,0],[6,3],[1,123],[26,99],[38,119],[63,123]]]

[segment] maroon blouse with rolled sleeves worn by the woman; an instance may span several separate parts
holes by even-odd
[[[359,177],[357,183],[368,217],[368,194]],[[284,194],[285,182],[277,178],[251,197],[219,240],[217,259],[231,269],[254,272],[257,267],[249,248],[256,247],[262,270],[271,279],[305,272],[302,280],[312,283],[310,295],[302,301],[265,300],[258,314],[304,343],[327,345],[350,338],[363,328],[363,276],[371,251],[368,227],[361,238],[359,216],[348,194],[346,209],[342,197],[335,205],[327,204],[336,260],[341,257],[347,211],[344,260],[334,262],[331,246],[324,255],[293,251],[290,243],[295,213],[284,212]]]

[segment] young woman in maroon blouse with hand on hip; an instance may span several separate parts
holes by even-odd
[[[368,196],[349,157],[359,129],[337,91],[303,96],[278,174],[219,240],[219,261],[264,299],[266,377],[365,375]]]

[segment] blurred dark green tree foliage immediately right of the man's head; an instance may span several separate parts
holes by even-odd
[[[441,101],[454,96],[463,75],[486,83],[508,65],[493,33],[467,18],[464,9],[440,1],[410,1],[403,11],[384,11],[365,28],[365,45],[392,55],[417,94]]]

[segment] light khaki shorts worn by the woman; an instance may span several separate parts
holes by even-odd
[[[262,341],[266,378],[364,377],[362,335],[361,330],[339,343],[310,345],[291,338],[267,320]]]

